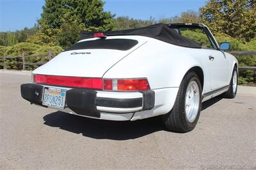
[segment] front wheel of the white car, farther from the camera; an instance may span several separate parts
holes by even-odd
[[[234,66],[232,77],[230,80],[228,91],[223,93],[223,98],[235,98],[237,93],[237,82],[238,82],[238,73],[237,73],[237,67]]]

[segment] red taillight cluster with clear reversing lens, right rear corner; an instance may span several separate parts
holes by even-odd
[[[104,79],[104,90],[111,91],[143,91],[148,90],[147,79]]]

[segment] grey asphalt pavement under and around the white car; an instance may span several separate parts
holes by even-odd
[[[0,73],[0,169],[256,169],[256,88],[203,104],[195,130],[102,121],[30,105],[29,75]]]

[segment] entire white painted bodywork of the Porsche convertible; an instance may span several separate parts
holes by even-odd
[[[204,73],[202,91],[202,95],[204,95],[214,89],[228,86],[232,69],[234,65],[237,65],[237,59],[234,56],[226,52],[224,56],[220,50],[180,47],[145,36],[109,36],[108,38],[127,38],[137,40],[138,44],[129,50],[86,49],[61,52],[49,63],[34,70],[33,73],[102,77],[104,79],[146,77],[150,89],[155,93],[153,109],[141,111],[142,107],[126,109],[97,106],[100,111],[99,119],[134,121],[169,112],[175,102],[180,82],[191,68],[198,67]],[[87,40],[95,40],[95,38]],[[71,55],[72,52],[90,52],[90,54]],[[214,56],[214,60],[209,60],[209,56]],[[203,102],[225,91],[227,89],[209,95],[203,99]],[[142,94],[138,92],[97,91],[97,97],[138,98],[142,97]],[[68,107],[59,110],[76,114]]]

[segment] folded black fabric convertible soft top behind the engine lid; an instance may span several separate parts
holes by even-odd
[[[86,38],[93,38],[95,32],[82,31],[80,40]],[[190,47],[200,49],[201,45],[193,40],[185,38],[179,34],[179,31],[173,27],[169,27],[165,24],[154,24],[152,26],[141,27],[136,29],[127,29],[123,31],[106,31],[103,32],[106,36],[114,35],[140,35],[148,36],[150,38],[156,38],[166,43],[172,43],[173,45],[179,45],[182,47]]]

